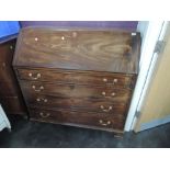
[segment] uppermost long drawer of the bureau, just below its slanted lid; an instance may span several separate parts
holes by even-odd
[[[75,71],[56,71],[44,69],[16,69],[21,80],[32,81],[50,81],[60,83],[77,83],[89,86],[113,86],[132,88],[135,76],[123,73],[104,73],[104,72],[75,72]]]

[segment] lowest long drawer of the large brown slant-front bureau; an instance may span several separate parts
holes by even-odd
[[[102,113],[86,113],[67,110],[42,110],[42,109],[30,109],[31,120],[70,124],[76,126],[83,125],[87,127],[100,127],[123,131],[125,116],[122,114],[110,115]]]

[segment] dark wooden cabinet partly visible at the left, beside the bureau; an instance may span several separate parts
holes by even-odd
[[[7,114],[25,115],[22,93],[12,68],[16,38],[0,41],[0,103]]]

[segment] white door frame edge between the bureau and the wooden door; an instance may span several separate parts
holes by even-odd
[[[158,39],[160,38],[163,24],[165,21],[149,21],[147,29],[145,30],[145,37],[143,37],[143,48],[140,53],[140,68],[124,127],[125,132],[133,131],[136,124],[136,113],[138,112],[139,102],[141,101],[141,97],[145,92],[144,88],[146,88],[145,84],[155,54],[155,47]],[[141,23],[138,25],[139,31],[141,30],[140,26],[143,26]]]

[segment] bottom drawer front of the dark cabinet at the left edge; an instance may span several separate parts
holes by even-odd
[[[25,112],[19,97],[4,97],[0,98],[0,102],[5,113],[23,114]]]

